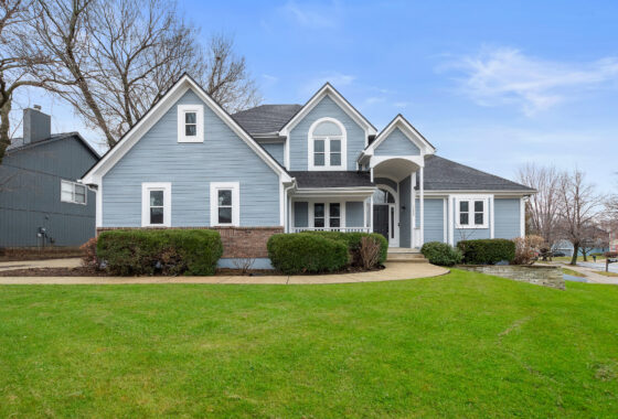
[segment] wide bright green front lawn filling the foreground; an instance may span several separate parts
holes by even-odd
[[[618,288],[0,287],[0,417],[616,417]]]

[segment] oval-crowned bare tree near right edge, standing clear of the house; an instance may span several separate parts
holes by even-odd
[[[575,169],[560,176],[557,190],[560,225],[562,234],[573,243],[571,265],[577,264],[577,254],[587,236],[587,228],[594,225],[597,210],[603,203],[594,185],[586,182],[585,175]]]

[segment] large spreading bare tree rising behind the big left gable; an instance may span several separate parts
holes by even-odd
[[[216,35],[204,51],[170,0],[36,2],[39,43],[56,58],[38,74],[54,74],[51,90],[100,129],[109,147],[184,73],[227,110],[259,101],[233,42]]]

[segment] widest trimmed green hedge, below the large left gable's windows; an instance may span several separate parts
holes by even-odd
[[[98,236],[97,257],[113,275],[214,275],[223,254],[219,232],[118,229]]]

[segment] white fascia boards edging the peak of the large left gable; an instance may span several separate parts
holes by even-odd
[[[136,123],[93,169],[84,175],[84,183],[95,183],[103,178],[148,130],[177,103],[182,95],[192,89],[209,107],[234,131],[247,146],[259,155],[285,182],[290,182],[289,174],[268,154],[204,89],[188,75],[182,76],[174,86]]]

